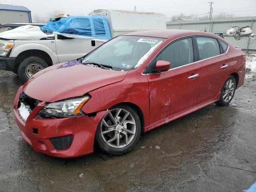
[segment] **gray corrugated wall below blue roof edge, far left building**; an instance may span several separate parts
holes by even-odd
[[[0,24],[29,23],[28,12],[0,10]]]

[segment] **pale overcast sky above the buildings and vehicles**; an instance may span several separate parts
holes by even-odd
[[[87,15],[96,9],[159,12],[166,17],[180,13],[205,16],[210,11],[209,0],[0,0],[0,4],[25,6],[32,16],[48,18],[56,10],[64,14]],[[235,16],[256,16],[256,0],[212,0],[214,15],[226,12]],[[208,14],[209,15],[209,14]]]

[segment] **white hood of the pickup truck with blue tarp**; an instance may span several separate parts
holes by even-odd
[[[0,38],[19,40],[40,40],[47,35],[41,31],[39,26],[24,25],[15,29],[0,33]]]

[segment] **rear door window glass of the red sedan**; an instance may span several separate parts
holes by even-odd
[[[220,54],[220,46],[215,38],[196,37],[196,42],[198,44],[200,60]]]

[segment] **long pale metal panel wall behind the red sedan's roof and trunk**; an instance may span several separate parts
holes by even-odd
[[[256,34],[256,17],[236,17],[236,18],[220,18],[206,20],[178,20],[166,22],[167,29],[186,29],[186,30],[207,30],[212,33],[223,33],[224,39],[230,44],[239,46],[244,52],[256,53],[256,40],[246,37],[241,40],[235,40],[233,36],[228,36],[226,31],[230,26],[250,26],[252,33]]]

